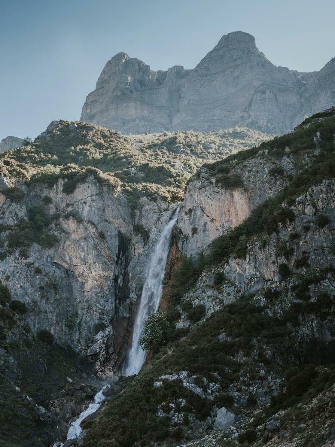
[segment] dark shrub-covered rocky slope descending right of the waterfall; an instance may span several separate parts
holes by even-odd
[[[334,134],[332,110],[268,143],[295,170],[206,256],[181,257],[153,359],[87,424],[85,446],[333,442]]]

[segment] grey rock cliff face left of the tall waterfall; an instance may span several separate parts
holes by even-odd
[[[93,177],[68,195],[62,184],[51,189],[22,185],[24,201],[3,202],[1,194],[2,228],[27,219],[27,210],[48,197],[43,207],[55,218],[50,229],[58,243],[45,249],[32,244],[24,255],[18,249],[7,253],[0,279],[12,299],[27,305],[26,321],[34,334],[47,329],[61,346],[93,360],[97,370],[110,369],[122,360],[132,304],[171,211],[164,202],[143,198],[132,212],[122,194],[111,193]]]

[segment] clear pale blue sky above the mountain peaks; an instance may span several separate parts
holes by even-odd
[[[0,140],[78,120],[106,62],[124,51],[193,68],[245,31],[275,65],[320,70],[335,56],[335,0],[0,0]]]

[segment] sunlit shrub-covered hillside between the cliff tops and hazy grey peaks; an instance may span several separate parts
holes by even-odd
[[[58,178],[79,182],[94,174],[130,195],[176,202],[202,164],[269,138],[246,128],[125,137],[87,123],[53,121],[34,142],[3,154],[0,160],[10,175],[33,182],[52,186]]]

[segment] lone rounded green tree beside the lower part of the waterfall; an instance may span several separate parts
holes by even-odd
[[[139,344],[143,349],[157,351],[166,343],[169,322],[164,312],[156,312],[150,315],[144,323],[143,336]]]

